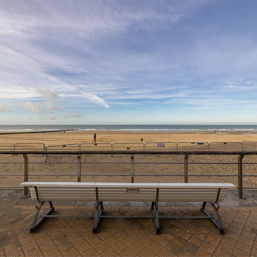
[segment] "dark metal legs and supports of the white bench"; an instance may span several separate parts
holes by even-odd
[[[214,219],[214,217],[209,214],[205,210],[205,206],[207,202],[203,202],[202,208],[200,209],[206,216],[159,216],[159,204],[158,204],[158,196],[159,196],[159,188],[156,188],[156,200],[155,202],[152,202],[151,204],[151,216],[145,216],[145,215],[102,215],[104,211],[103,202],[98,200],[98,187],[95,187],[95,194],[96,194],[96,204],[95,204],[95,215],[50,215],[52,212],[54,212],[54,206],[51,201],[48,201],[50,205],[50,209],[46,211],[45,214],[41,215],[40,219],[37,221],[37,217],[39,215],[40,209],[44,205],[45,202],[41,202],[38,197],[38,189],[37,186],[33,186],[35,188],[36,196],[37,196],[37,202],[35,204],[35,207],[37,209],[32,227],[30,228],[30,233],[35,233],[36,228],[40,225],[43,220],[49,217],[85,217],[85,218],[95,218],[94,226],[93,226],[93,234],[97,233],[98,225],[101,220],[101,218],[151,218],[154,221],[156,234],[161,234],[160,226],[159,226],[159,219],[210,219],[211,222],[214,224],[214,226],[220,231],[221,235],[224,235],[224,229],[222,228],[222,222],[220,218],[220,214],[218,212],[218,209],[220,208],[220,205],[218,203],[219,195],[220,195],[220,188],[217,192],[216,201],[214,203],[211,203],[212,208],[214,209],[217,221]],[[216,205],[215,205],[216,203]]]

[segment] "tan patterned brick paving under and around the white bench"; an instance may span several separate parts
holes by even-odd
[[[167,219],[160,220],[161,235],[155,234],[151,219],[104,219],[98,234],[92,234],[91,218],[51,218],[29,234],[33,201],[0,201],[0,256],[257,256],[256,196],[227,198],[227,203],[239,207],[220,208],[225,235],[209,220]],[[245,203],[252,207],[242,207]],[[68,204],[55,203],[55,214],[94,214],[93,206]],[[111,205],[105,207],[106,215],[151,215],[149,207]],[[162,206],[160,213],[203,215],[200,206]]]

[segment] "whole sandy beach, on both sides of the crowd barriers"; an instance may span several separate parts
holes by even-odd
[[[43,142],[46,146],[62,145],[72,143],[90,143],[93,140],[95,131],[66,131],[55,133],[37,133],[37,134],[9,134],[1,135],[0,143],[17,142]],[[242,142],[255,141],[255,134],[194,134],[194,133],[170,133],[170,132],[106,132],[97,131],[96,140],[98,143],[122,143],[122,142]],[[238,156],[189,156],[189,162],[237,162]],[[23,156],[1,156],[1,162],[23,162]],[[29,162],[44,162],[44,157],[29,155]],[[125,155],[83,155],[82,162],[130,162],[130,156]],[[135,155],[135,182],[184,182],[183,176],[152,176],[160,175],[183,175],[183,164],[136,164],[136,162],[184,162],[182,155]],[[29,181],[76,181],[77,164],[51,164],[51,162],[77,162],[76,156],[66,156],[62,158],[51,159],[50,163],[29,164]],[[257,162],[257,156],[245,156],[243,162]],[[23,164],[0,164],[1,174],[22,174]],[[98,182],[129,182],[130,181],[130,163],[129,164],[82,164],[82,181]],[[212,175],[237,175],[237,164],[189,164],[189,175],[193,174],[212,174]],[[46,176],[40,174],[54,174]],[[257,165],[244,164],[244,174],[257,174]],[[32,175],[34,174],[34,175]],[[67,174],[67,175],[62,175]],[[68,175],[69,174],[69,175]],[[105,176],[96,176],[105,174]],[[112,176],[115,174],[115,176]],[[121,175],[128,176],[121,176]],[[145,176],[137,176],[137,175]],[[22,175],[7,176],[1,175],[0,186],[16,186],[23,182]],[[189,182],[230,182],[237,185],[237,177],[197,177],[190,176]],[[255,177],[244,177],[244,187],[256,187],[257,179]]]

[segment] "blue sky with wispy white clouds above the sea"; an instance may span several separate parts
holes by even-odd
[[[257,124],[257,1],[0,1],[0,124]]]

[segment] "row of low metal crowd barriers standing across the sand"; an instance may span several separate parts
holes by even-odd
[[[50,145],[43,143],[0,143],[0,151],[257,151],[257,142],[149,142],[149,143],[85,143]],[[61,157],[48,155],[48,159]]]

